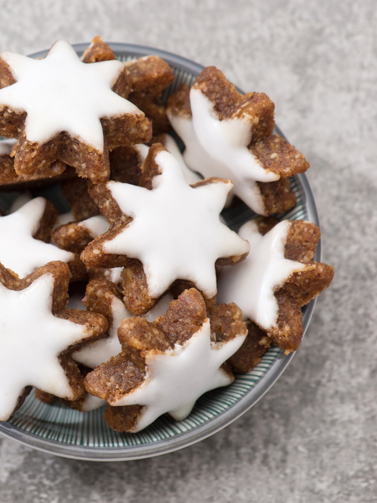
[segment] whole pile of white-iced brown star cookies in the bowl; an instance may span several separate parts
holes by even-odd
[[[20,193],[0,216],[1,421],[34,387],[138,432],[300,346],[333,269],[313,262],[315,224],[276,216],[309,164],[265,94],[207,67],[164,104],[173,79],[100,37],[81,58],[0,53],[0,191]],[[68,213],[38,195],[53,184]],[[257,217],[236,233],[220,213],[241,204]]]

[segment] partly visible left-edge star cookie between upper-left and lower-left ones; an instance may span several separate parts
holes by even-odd
[[[56,218],[56,208],[43,197],[0,217],[0,262],[23,278],[48,262],[61,260],[69,266],[71,281],[81,280],[86,269],[78,255],[50,244]]]

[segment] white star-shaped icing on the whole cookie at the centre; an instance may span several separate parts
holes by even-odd
[[[248,242],[219,219],[232,183],[193,189],[169,152],[159,152],[155,161],[162,174],[153,178],[153,190],[107,182],[115,201],[133,221],[103,249],[139,259],[151,297],[159,297],[174,280],[185,279],[211,298],[216,294],[216,260],[249,250]]]

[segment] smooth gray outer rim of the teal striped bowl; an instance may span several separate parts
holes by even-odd
[[[121,42],[108,42],[108,44],[115,54],[135,57],[142,57],[151,54],[157,55],[167,61],[170,65],[185,71],[190,71],[193,74],[199,74],[204,68],[204,66],[196,63],[195,61],[161,49]],[[82,53],[87,46],[88,43],[72,44],[72,47],[78,54]],[[30,56],[34,58],[44,57],[47,52],[48,50],[46,49],[34,52],[30,54]],[[285,135],[277,126],[275,126],[275,129],[280,136],[285,138]],[[296,175],[296,177],[299,179],[305,194],[305,207],[308,212],[308,218],[310,221],[320,226],[313,192],[308,178],[305,174],[299,174]],[[318,262],[321,261],[321,239],[319,240],[314,258]],[[303,312],[304,335],[313,315],[315,304],[316,299],[313,299],[306,306],[305,311]],[[204,425],[193,428],[193,430],[189,432],[179,434],[176,438],[160,440],[153,445],[138,445],[131,447],[119,446],[111,448],[69,445],[55,440],[35,436],[34,434],[21,430],[8,422],[0,423],[0,434],[17,440],[28,447],[32,447],[48,454],[85,461],[131,461],[167,454],[178,449],[182,449],[183,447],[189,447],[190,445],[204,440],[233,423],[233,421],[255,405],[255,403],[260,400],[260,398],[262,398],[262,396],[271,388],[271,386],[290,364],[294,355],[295,353],[291,353],[288,356],[280,354],[262,378],[250,389],[250,391],[248,391],[242,398],[239,399],[237,403],[232,405],[228,410],[221,413],[219,416],[214,417],[211,421],[205,423]]]

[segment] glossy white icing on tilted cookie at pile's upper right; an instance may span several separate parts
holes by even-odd
[[[173,115],[169,121],[185,144],[187,165],[205,178],[220,177],[233,182],[238,196],[259,215],[266,209],[256,181],[273,182],[280,177],[267,171],[247,148],[251,140],[250,117],[220,121],[211,101],[199,90],[190,91],[192,118]]]

